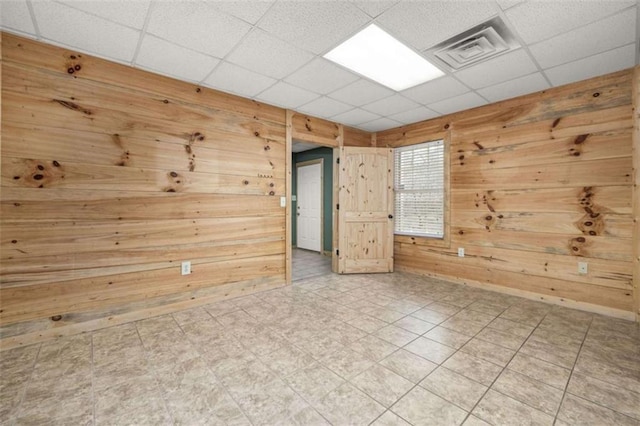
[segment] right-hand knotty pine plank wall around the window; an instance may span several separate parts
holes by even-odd
[[[396,236],[396,265],[632,317],[632,75],[378,133],[450,142],[450,240]]]

